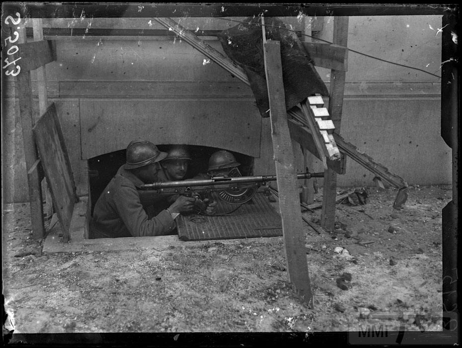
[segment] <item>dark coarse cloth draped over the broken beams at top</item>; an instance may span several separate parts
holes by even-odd
[[[288,27],[277,17],[265,17],[265,29],[266,39],[281,45],[286,110],[316,93],[328,96],[327,87],[296,33],[286,30]],[[261,116],[269,117],[260,17],[249,17],[217,36],[228,57],[247,74]]]

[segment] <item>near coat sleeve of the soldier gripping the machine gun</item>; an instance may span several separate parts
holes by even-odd
[[[162,236],[176,227],[166,210],[149,219],[135,187],[122,185],[114,200],[120,218],[133,237]]]

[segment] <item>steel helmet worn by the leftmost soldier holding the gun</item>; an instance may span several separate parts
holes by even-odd
[[[125,169],[135,169],[148,166],[154,162],[163,160],[166,152],[157,149],[153,143],[147,140],[134,140],[127,146]]]

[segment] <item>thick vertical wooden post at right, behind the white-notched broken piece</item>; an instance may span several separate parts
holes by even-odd
[[[348,43],[348,17],[334,18],[333,43],[347,46]],[[343,92],[345,89],[345,72],[331,70],[329,115],[335,126],[335,131],[340,134],[340,120],[343,109]],[[337,191],[337,174],[330,168],[324,172],[324,188],[322,191],[321,226],[326,231],[333,231],[335,223],[335,196]]]

